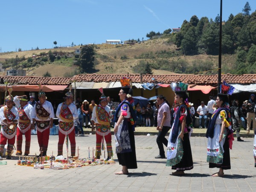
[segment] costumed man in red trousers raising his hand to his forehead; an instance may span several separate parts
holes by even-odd
[[[34,124],[32,124],[33,120],[31,118],[31,113],[33,111],[32,105],[28,103],[28,97],[26,95],[23,96],[15,96],[14,100],[15,105],[18,107],[19,114],[19,122],[17,125],[17,152],[16,155],[22,154],[22,135],[25,135],[25,152],[24,155],[29,155],[30,149],[30,140],[31,140],[31,129],[34,129]]]

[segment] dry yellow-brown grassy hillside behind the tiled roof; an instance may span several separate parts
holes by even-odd
[[[79,47],[68,47],[60,49],[42,49],[42,50],[30,50],[21,52],[9,52],[0,53],[0,62],[4,62],[5,59],[19,58],[23,56],[25,58],[32,57],[32,55],[40,55],[41,52],[49,52],[49,50],[58,52],[74,52]],[[209,61],[212,64],[212,68],[217,69],[218,67],[218,56],[216,55],[194,55],[194,56],[184,56],[181,55],[177,50],[177,47],[168,43],[168,39],[154,39],[150,41],[145,41],[140,44],[134,45],[112,45],[112,44],[102,44],[96,45],[96,73],[140,73],[140,70],[133,70],[134,66],[139,64],[141,61],[149,62],[151,64],[157,65],[155,69],[152,70],[153,74],[173,74],[174,71],[170,70],[168,67],[159,67],[161,63],[169,64],[172,61],[184,60],[189,65],[195,64],[195,62]],[[25,68],[27,70],[27,75],[29,76],[42,76],[45,72],[51,73],[54,76],[67,76],[69,73],[74,73],[78,70],[78,67],[73,65],[73,60],[75,58],[61,58],[55,60],[53,63],[47,61],[44,65],[37,64],[35,67]],[[235,62],[236,56],[234,55],[223,55],[222,65],[223,69],[232,66]],[[160,63],[160,64],[159,64]],[[136,67],[135,67],[136,68]],[[167,69],[167,70],[166,70]],[[213,71],[214,72],[214,71]],[[217,70],[214,72],[217,73]],[[5,73],[2,72],[1,75]],[[204,73],[199,73],[204,74]]]

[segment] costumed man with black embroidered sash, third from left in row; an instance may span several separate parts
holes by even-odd
[[[41,89],[41,85],[39,85]],[[49,134],[50,128],[53,125],[54,111],[52,104],[46,101],[47,97],[45,96],[44,91],[38,92],[39,101],[34,105],[31,117],[33,119],[32,124],[36,123],[37,137],[40,155],[47,156],[47,148],[49,143]]]

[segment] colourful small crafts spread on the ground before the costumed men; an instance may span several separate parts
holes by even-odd
[[[87,158],[80,158],[79,159],[79,147],[77,148],[78,156],[64,158],[62,155],[54,157],[53,151],[51,156],[45,157],[37,157],[35,156],[19,156],[19,160],[17,161],[18,166],[31,166],[34,169],[70,169],[70,168],[77,168],[82,166],[96,166],[96,165],[109,165],[114,164],[115,161],[113,160],[113,156],[110,160],[106,160],[105,158],[105,150],[104,150],[104,159],[96,159],[90,157],[90,147],[88,148],[88,157]],[[94,149],[93,149],[94,151]],[[22,160],[21,160],[22,158]]]

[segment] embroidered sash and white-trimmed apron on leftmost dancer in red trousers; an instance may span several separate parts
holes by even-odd
[[[3,109],[3,113],[4,116],[6,118],[6,120],[8,122],[13,122],[13,120],[15,119],[15,114],[12,113],[12,111],[10,109],[8,109],[6,106]],[[16,132],[17,132],[17,124],[14,123],[14,128],[9,129],[9,127],[7,125],[2,125],[1,128],[1,133],[3,134],[4,137],[6,137],[7,139],[12,139],[13,137],[15,137]]]

